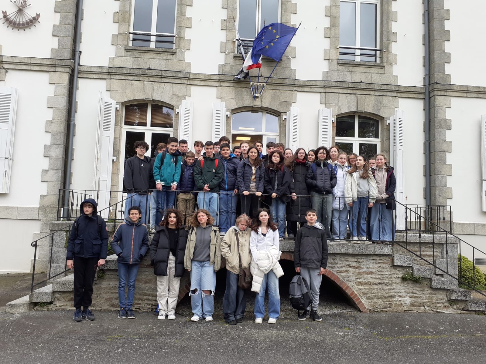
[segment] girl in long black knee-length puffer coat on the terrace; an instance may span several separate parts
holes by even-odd
[[[292,238],[297,233],[297,223],[305,224],[306,211],[311,208],[311,198],[305,182],[306,175],[311,170],[304,148],[295,150],[294,155],[285,164],[291,172],[292,182],[290,192],[292,199],[287,202],[287,235]]]

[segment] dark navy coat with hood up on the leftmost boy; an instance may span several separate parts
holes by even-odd
[[[94,206],[93,215],[85,215],[83,211],[83,203],[85,202],[89,202]],[[100,219],[101,227],[98,226],[96,201],[94,199],[85,199],[81,202],[79,209],[81,216],[77,219],[77,224],[75,222],[71,228],[66,259],[72,260],[75,256],[105,259],[108,251],[108,232],[103,219]]]

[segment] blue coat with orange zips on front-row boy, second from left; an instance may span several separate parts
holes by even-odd
[[[130,217],[125,218],[113,234],[111,248],[120,263],[139,264],[149,248],[147,226],[141,219],[133,223]]]

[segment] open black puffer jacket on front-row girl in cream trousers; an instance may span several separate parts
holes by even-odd
[[[179,240],[175,251],[175,273],[174,277],[182,277],[184,274],[184,253],[186,252],[187,231],[181,226],[179,229]],[[169,264],[169,253],[171,243],[169,232],[165,226],[157,226],[157,230],[150,244],[150,265],[154,266],[156,276],[167,276]]]

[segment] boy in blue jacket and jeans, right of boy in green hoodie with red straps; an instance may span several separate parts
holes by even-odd
[[[219,231],[221,235],[235,224],[238,189],[236,188],[236,172],[240,161],[231,153],[228,143],[221,145],[221,155],[218,157],[223,167],[223,179],[219,184]]]

